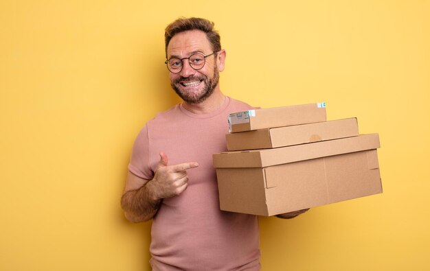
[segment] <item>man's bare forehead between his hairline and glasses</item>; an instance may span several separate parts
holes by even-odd
[[[195,52],[210,54],[211,49],[205,32],[191,30],[173,36],[167,47],[167,56],[168,58],[171,56],[188,57]]]

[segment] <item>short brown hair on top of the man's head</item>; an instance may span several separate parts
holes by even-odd
[[[170,40],[174,35],[190,31],[190,30],[200,30],[205,32],[207,40],[209,40],[212,50],[217,52],[221,49],[220,35],[216,30],[214,30],[214,23],[203,18],[179,18],[173,23],[170,23],[166,27],[164,32],[164,39],[166,42],[166,58],[167,58],[167,47],[170,43]]]

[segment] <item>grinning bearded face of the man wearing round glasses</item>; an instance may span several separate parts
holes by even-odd
[[[204,56],[212,54],[212,47],[206,34],[199,30],[181,32],[173,36],[167,49],[167,57],[188,58],[192,54],[200,53]],[[196,71],[190,67],[188,59],[183,60],[183,67],[179,73],[170,73],[170,84],[174,91],[185,102],[199,104],[218,88],[219,71],[216,55],[205,59],[203,68]]]

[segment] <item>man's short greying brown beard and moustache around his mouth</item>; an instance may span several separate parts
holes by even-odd
[[[200,75],[200,76],[190,76],[188,78],[180,77],[172,82],[170,82],[170,85],[172,86],[172,89],[174,92],[181,97],[185,102],[188,102],[189,104],[200,104],[203,102],[207,97],[210,97],[212,93],[214,93],[215,87],[218,85],[220,79],[220,74],[218,71],[218,67],[214,67],[214,77],[211,79],[207,79],[207,76]],[[181,92],[180,87],[181,81],[194,81],[199,80],[203,81],[205,86],[203,87],[203,90],[200,93],[185,93]]]

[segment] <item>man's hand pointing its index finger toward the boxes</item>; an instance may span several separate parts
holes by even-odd
[[[155,176],[148,182],[155,200],[171,198],[181,194],[188,187],[186,170],[198,167],[196,162],[168,165],[168,157],[160,153],[160,161],[155,169]]]

